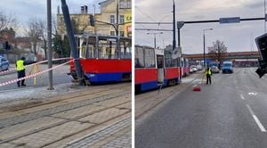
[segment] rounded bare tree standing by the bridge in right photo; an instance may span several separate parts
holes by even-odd
[[[213,42],[213,46],[208,48],[208,55],[212,60],[217,62],[223,62],[223,58],[227,53],[227,47],[224,45],[223,41],[216,40]]]

